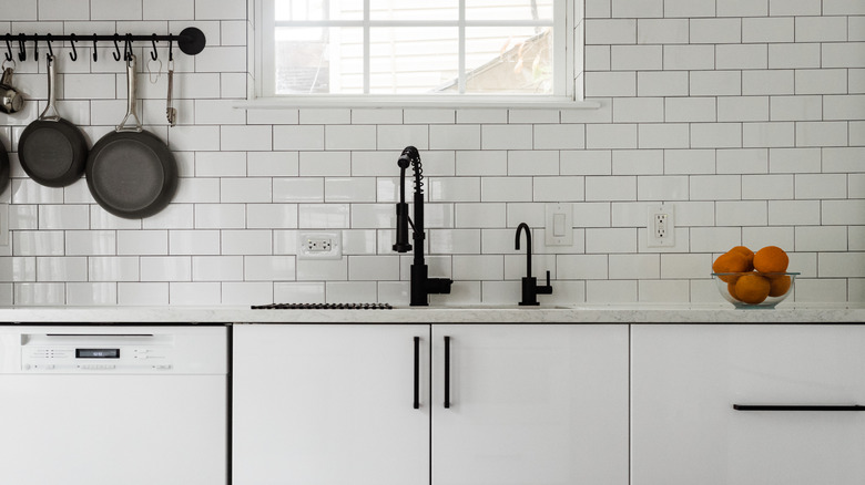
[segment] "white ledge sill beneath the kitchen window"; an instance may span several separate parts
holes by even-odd
[[[424,99],[417,96],[282,96],[257,97],[238,101],[234,104],[241,110],[292,110],[302,107],[342,107],[342,109],[509,109],[509,110],[597,110],[598,101],[573,101],[568,99],[496,97],[484,99],[447,96]]]

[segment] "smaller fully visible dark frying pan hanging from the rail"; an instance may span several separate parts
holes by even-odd
[[[55,62],[48,58],[48,106],[21,133],[18,158],[27,175],[49,187],[64,187],[81,178],[88,159],[88,143],[81,131],[60,117],[54,106]],[[49,114],[51,113],[51,114]]]

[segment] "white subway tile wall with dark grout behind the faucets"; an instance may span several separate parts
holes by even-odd
[[[175,200],[144,220],[108,215],[84,179],[27,177],[14,152],[44,106],[45,68],[19,63],[31,102],[0,115],[13,176],[0,194],[1,305],[407,303],[410,256],[390,245],[408,144],[427,175],[430,274],[457,281],[437,303],[518,301],[521,221],[536,276],[554,279],[546,302],[722,301],[711,262],[739,244],[787,249],[796,301],[865,301],[861,0],[586,0],[586,94],[601,103],[588,111],[237,110],[244,1],[0,0],[0,34],[207,35],[196,56],[175,51],[173,128],[165,65],[151,84],[140,49],[144,122],[182,174]],[[60,112],[91,141],[125,112],[122,63],[100,45],[95,63],[84,43],[77,62],[60,52]],[[547,202],[573,203],[573,247],[545,247]],[[675,248],[645,246],[657,202],[675,205]],[[323,228],[344,230],[346,256],[296,260],[296,231]]]

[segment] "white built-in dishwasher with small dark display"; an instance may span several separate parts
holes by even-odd
[[[0,483],[227,483],[227,329],[0,327]]]

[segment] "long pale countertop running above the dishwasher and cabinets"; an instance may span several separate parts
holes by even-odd
[[[395,307],[389,310],[252,310],[248,307],[16,307],[1,323],[783,323],[864,322],[865,306],[576,305],[573,307]]]

